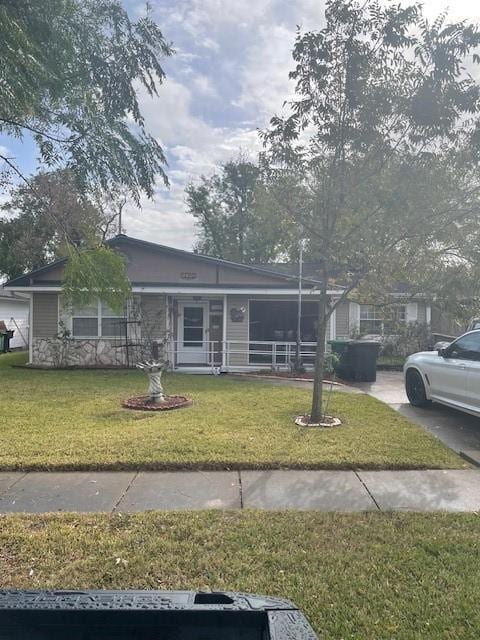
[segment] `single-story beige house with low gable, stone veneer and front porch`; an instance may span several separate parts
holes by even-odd
[[[288,367],[295,357],[298,276],[274,265],[244,265],[126,235],[108,241],[125,258],[132,299],[119,316],[102,301],[62,305],[66,258],[7,286],[30,296],[30,363],[41,366],[134,366],[166,349],[175,369],[241,371]],[[302,356],[313,362],[320,282],[302,280]],[[332,298],[340,286],[329,287]],[[423,301],[399,302],[406,322],[429,322]],[[352,330],[371,333],[382,321],[368,305],[342,302],[327,340]],[[164,345],[164,346],[163,346]]]

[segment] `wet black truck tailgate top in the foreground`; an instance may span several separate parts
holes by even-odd
[[[288,600],[193,591],[0,591],[0,640],[317,640]]]

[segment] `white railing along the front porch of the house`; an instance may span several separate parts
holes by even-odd
[[[192,351],[192,347],[195,351]],[[175,340],[170,343],[169,350],[169,359],[176,366],[208,366],[226,370],[288,369],[296,359],[297,345],[295,342],[262,340],[210,340],[200,344]],[[300,357],[305,365],[313,365],[315,355],[315,342],[301,343]]]

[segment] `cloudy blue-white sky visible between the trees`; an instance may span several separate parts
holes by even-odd
[[[131,16],[145,3],[123,0]],[[253,159],[258,130],[281,113],[292,96],[288,80],[297,25],[323,26],[322,0],[150,0],[153,17],[176,54],[164,61],[167,74],[159,96],[140,96],[146,126],[162,145],[170,188],[159,182],[153,200],[129,206],[125,230],[134,237],[191,249],[195,228],[186,212],[186,184],[210,175],[241,151]],[[426,14],[448,8],[425,0]],[[480,22],[479,0],[451,0],[452,19]],[[23,170],[35,169],[29,141],[0,137],[0,147]]]

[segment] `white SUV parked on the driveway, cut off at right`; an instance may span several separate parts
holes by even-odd
[[[438,351],[414,353],[403,371],[414,407],[433,400],[480,417],[480,329]]]

